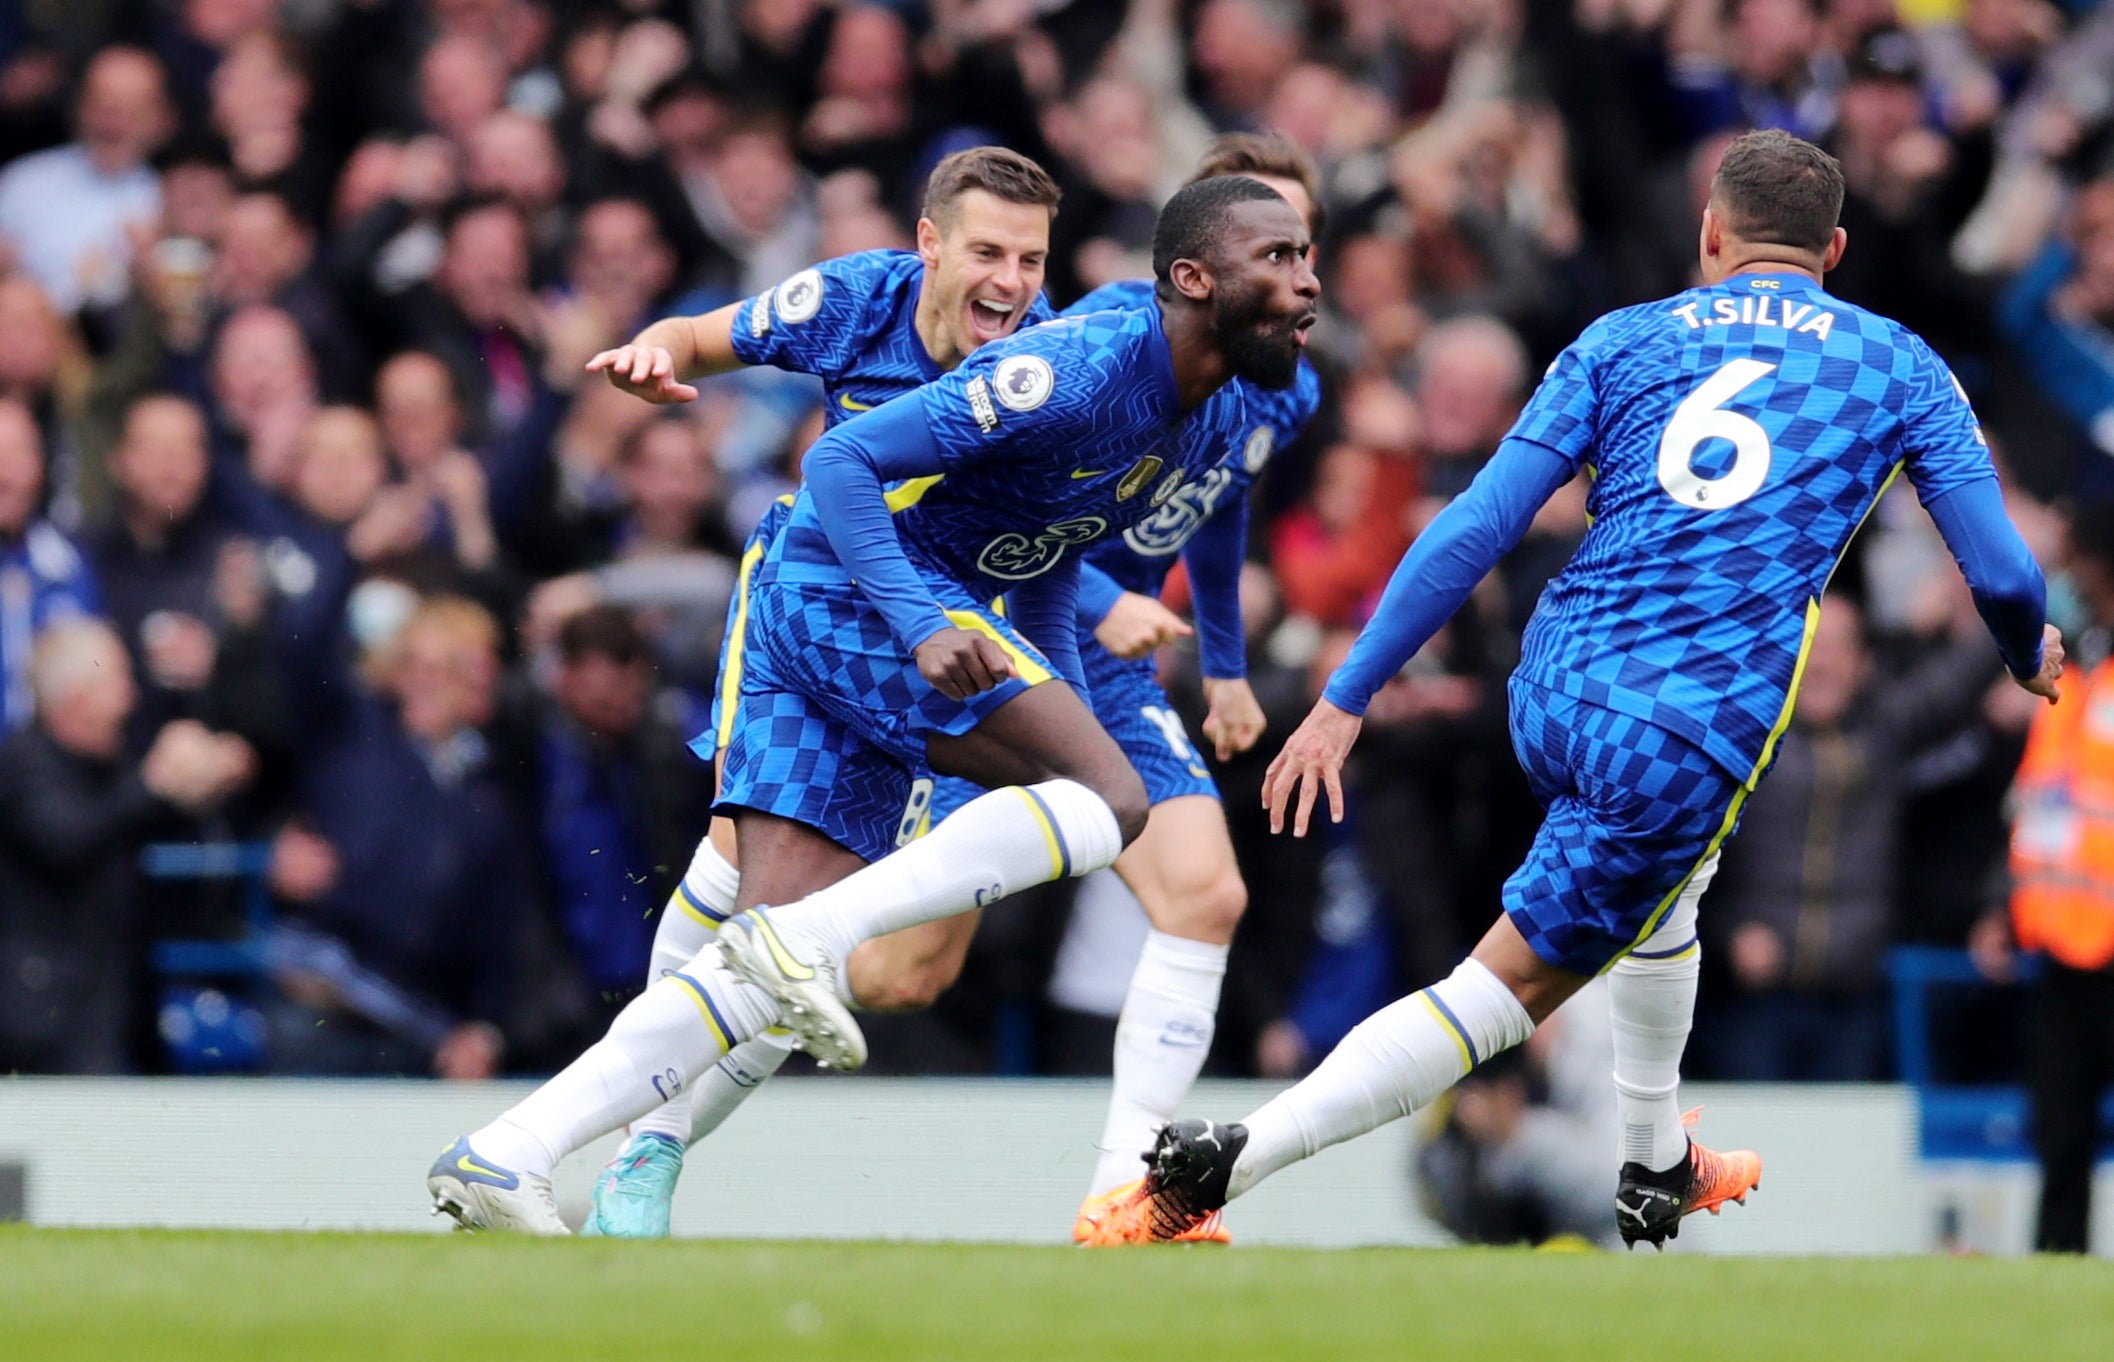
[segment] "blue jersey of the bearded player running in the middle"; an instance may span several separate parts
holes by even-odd
[[[1156,307],[994,340],[917,400],[945,472],[888,493],[896,535],[920,571],[979,596],[1123,535],[1239,459],[1247,434],[1239,383],[1182,412]],[[769,560],[837,565],[810,493]]]

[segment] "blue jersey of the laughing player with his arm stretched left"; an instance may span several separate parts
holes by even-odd
[[[882,402],[939,379],[941,368],[917,338],[917,252],[854,252],[803,269],[778,288],[734,309],[734,353],[822,379],[822,419],[850,421]],[[1021,326],[1055,313],[1042,294]]]

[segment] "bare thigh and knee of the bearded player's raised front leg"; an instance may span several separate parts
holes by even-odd
[[[926,759],[985,789],[1076,780],[1108,802],[1125,842],[1146,825],[1144,780],[1063,681],[1021,689],[964,734],[930,734]]]

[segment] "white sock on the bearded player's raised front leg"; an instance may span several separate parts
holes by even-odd
[[[797,903],[772,907],[772,926],[831,960],[860,941],[937,922],[1034,884],[1084,876],[1116,861],[1123,831],[1101,795],[1076,780],[1006,785],[977,795],[909,846]],[[850,971],[837,971],[850,988]]]

